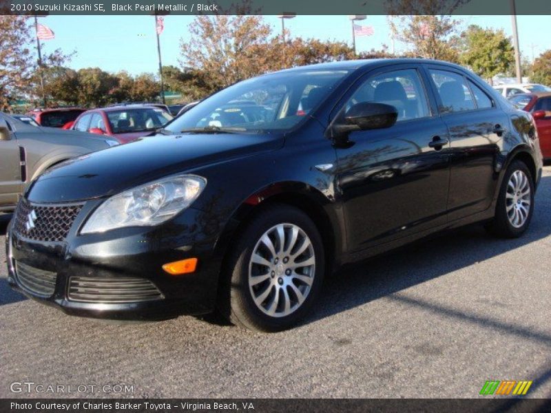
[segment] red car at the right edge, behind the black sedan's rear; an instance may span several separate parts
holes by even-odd
[[[543,159],[551,160],[551,92],[517,94],[511,96],[509,101],[532,114],[538,128]]]

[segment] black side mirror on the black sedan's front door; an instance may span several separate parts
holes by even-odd
[[[385,103],[357,103],[331,125],[333,138],[347,140],[351,131],[384,129],[396,123],[398,111]]]

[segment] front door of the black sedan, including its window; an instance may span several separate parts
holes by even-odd
[[[375,102],[395,106],[398,118],[387,129],[353,131],[351,145],[336,149],[351,252],[444,224],[449,182],[448,131],[433,116],[417,65],[370,72],[359,83],[341,113]]]

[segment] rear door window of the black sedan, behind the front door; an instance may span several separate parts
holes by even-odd
[[[441,113],[464,112],[476,108],[475,99],[463,76],[446,70],[430,70],[430,76],[440,96]]]

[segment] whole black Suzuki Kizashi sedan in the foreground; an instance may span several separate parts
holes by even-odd
[[[281,330],[342,264],[471,222],[518,237],[541,166],[530,114],[457,65],[298,67],[34,180],[8,280],[72,315]]]

